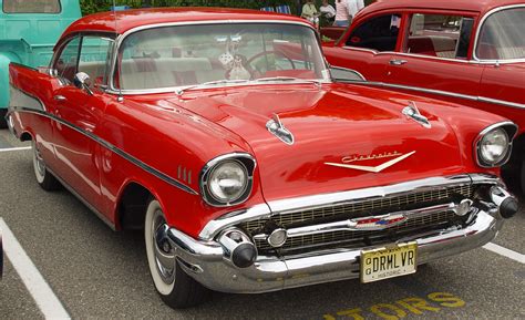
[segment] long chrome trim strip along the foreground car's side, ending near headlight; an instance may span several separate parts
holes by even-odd
[[[130,163],[138,166],[140,168],[142,168],[143,171],[156,176],[157,178],[162,179],[163,182],[167,183],[167,184],[171,184],[186,193],[189,193],[192,195],[198,195],[198,193],[196,190],[194,190],[193,188],[191,188],[189,186],[178,182],[177,179],[175,178],[172,178],[171,176],[162,173],[161,171],[157,171],[156,168],[143,163],[142,161],[137,159],[136,157],[130,155],[128,153],[124,152],[123,149],[116,147],[115,145],[100,138],[99,136],[94,135],[93,133],[90,133],[90,132],[86,132],[84,130],[82,130],[81,127],[70,123],[70,122],[66,122],[51,113],[48,113],[48,112],[44,112],[44,111],[39,111],[39,110],[34,110],[34,109],[27,109],[27,107],[21,107],[21,106],[10,106],[11,111],[12,112],[23,112],[23,113],[33,113],[33,114],[38,114],[38,115],[41,115],[41,116],[45,116],[45,117],[49,117],[58,123],[61,123],[76,132],[79,132],[80,134],[83,134],[85,136],[87,136],[89,138],[93,140],[94,142],[99,143],[101,146],[112,151],[113,153],[120,155],[121,157],[123,157],[124,159],[128,161]]]

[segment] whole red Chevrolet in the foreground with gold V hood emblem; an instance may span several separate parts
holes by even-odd
[[[8,123],[32,142],[38,183],[115,229],[143,228],[174,308],[208,289],[413,273],[492,240],[517,210],[498,177],[514,123],[337,83],[298,18],[94,14],[49,69],[11,64],[10,80]]]

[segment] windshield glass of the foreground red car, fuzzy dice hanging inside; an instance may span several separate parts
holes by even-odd
[[[279,78],[328,80],[316,33],[281,23],[162,27],[126,37],[115,87],[171,89]]]

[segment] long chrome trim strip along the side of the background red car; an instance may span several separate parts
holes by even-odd
[[[497,104],[497,105],[525,110],[525,104],[522,104],[522,103],[490,99],[490,97],[484,97],[484,96],[474,96],[474,95],[469,95],[469,94],[441,91],[441,90],[434,90],[434,89],[425,89],[425,87],[420,87],[420,86],[410,86],[410,85],[393,84],[393,83],[385,83],[385,82],[373,82],[373,81],[362,82],[362,81],[353,81],[353,80],[342,80],[339,82],[372,85],[372,86],[379,86],[379,87],[385,87],[385,89],[409,90],[409,91],[423,92],[423,93],[430,93],[430,94],[450,96],[450,97],[457,97],[457,99],[463,99],[463,100],[469,100],[469,101],[484,102],[484,103],[490,103],[490,104]]]

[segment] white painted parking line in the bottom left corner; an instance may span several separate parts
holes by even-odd
[[[8,259],[13,265],[14,270],[17,270],[45,319],[71,319],[62,302],[60,302],[48,282],[45,282],[2,218],[0,218],[0,229],[3,238],[3,249]]]

